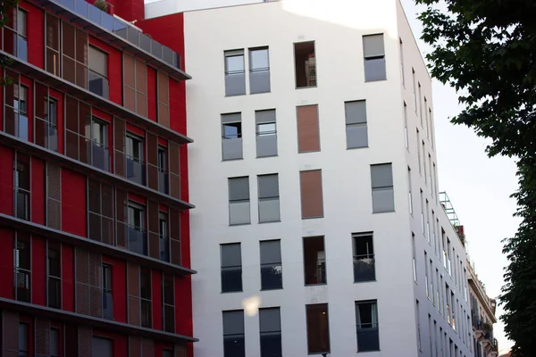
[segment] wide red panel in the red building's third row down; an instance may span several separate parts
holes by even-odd
[[[86,178],[62,170],[62,230],[86,237]]]

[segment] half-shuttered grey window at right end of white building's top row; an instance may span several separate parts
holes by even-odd
[[[383,34],[363,37],[364,81],[387,79]]]

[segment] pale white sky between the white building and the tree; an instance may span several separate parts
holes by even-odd
[[[414,0],[401,0],[417,43],[424,54],[431,51],[420,39],[423,25],[417,13],[423,7]],[[454,125],[449,118],[462,110],[456,91],[433,81],[433,111],[438,155],[438,179],[441,191],[447,191],[456,214],[464,225],[470,259],[478,278],[490,297],[500,294],[507,258],[501,240],[512,237],[520,220],[512,215],[516,204],[509,195],[517,189],[515,162],[507,157],[488,158],[484,149],[490,140],[477,137],[473,129]],[[498,307],[497,317],[501,313]],[[494,328],[498,348],[512,346],[504,335],[503,324]]]

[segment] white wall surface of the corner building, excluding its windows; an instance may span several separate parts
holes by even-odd
[[[192,268],[198,271],[193,277],[197,357],[222,356],[222,311],[241,309],[243,299],[251,296],[260,297],[261,307],[281,306],[284,356],[307,355],[307,303],[329,304],[330,356],[354,355],[354,303],[369,299],[378,300],[381,351],[367,355],[431,356],[429,311],[462,354],[472,355],[425,296],[424,249],[448,285],[456,284],[433,244],[423,237],[418,187],[423,187],[463,262],[465,255],[440,203],[431,198],[419,175],[415,128],[420,120],[412,109],[411,67],[429,103],[431,83],[403,16],[396,0],[285,0],[185,13],[186,68],[193,77],[187,83],[187,101],[188,136],[195,138],[188,145],[188,162],[190,201],[197,206],[190,219]],[[362,36],[376,33],[384,34],[388,80],[364,83]],[[399,37],[406,45],[406,89],[401,84]],[[293,43],[307,40],[315,41],[318,86],[295,89]],[[225,97],[223,52],[244,48],[247,53],[247,48],[256,46],[269,46],[272,92]],[[367,101],[369,147],[347,150],[344,102],[358,99]],[[403,100],[408,104],[409,152]],[[321,152],[297,154],[296,106],[303,104],[319,105]],[[279,156],[255,159],[255,110],[262,109],[276,109]],[[226,112],[242,113],[244,160],[222,162],[220,114]],[[431,155],[435,161],[433,150]],[[373,214],[370,165],[383,162],[393,164],[396,212]],[[407,198],[408,165],[413,172],[413,217]],[[301,220],[299,170],[308,169],[322,169],[322,219]],[[281,222],[258,224],[256,175],[270,173],[279,174]],[[227,179],[239,176],[249,176],[252,224],[229,227]],[[366,231],[374,235],[377,281],[355,284],[351,234]],[[413,278],[412,231],[418,285]],[[304,286],[302,237],[306,236],[325,237],[326,286]],[[260,291],[259,241],[274,238],[281,239],[283,289]],[[221,294],[220,244],[233,242],[242,245],[244,292]],[[456,288],[456,296],[466,306],[459,291]],[[415,299],[422,309],[421,353]],[[258,316],[246,317],[245,324],[246,355],[259,356]]]

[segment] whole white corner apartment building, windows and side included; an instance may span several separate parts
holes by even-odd
[[[147,4],[186,11],[195,356],[473,356],[401,4],[241,3]]]

